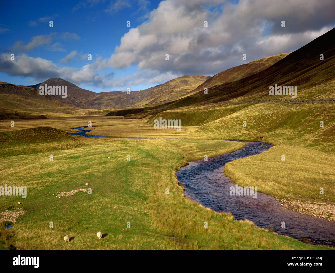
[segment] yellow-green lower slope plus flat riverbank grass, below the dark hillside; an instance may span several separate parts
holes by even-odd
[[[319,87],[313,91],[324,93]],[[328,206],[327,211],[319,207],[310,213],[318,211],[335,219],[334,104],[223,103],[165,111],[159,116],[201,126],[195,133],[212,138],[272,143],[275,148],[261,155],[227,163],[225,174],[238,185],[257,185],[260,192],[279,198],[321,202]],[[247,122],[246,128],[243,121]],[[320,121],[324,122],[323,128]],[[285,161],[281,160],[283,154]],[[325,190],[323,195],[320,188]]]

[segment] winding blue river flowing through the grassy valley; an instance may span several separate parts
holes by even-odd
[[[79,132],[71,135],[104,137],[86,135],[87,132],[91,131],[88,129],[73,129],[78,129]],[[260,154],[271,147],[270,143],[265,142],[234,141],[245,143],[245,147],[235,152],[208,158],[208,161],[203,159],[191,161],[189,165],[181,167],[177,171],[177,178],[185,189],[186,197],[215,211],[231,212],[236,220],[248,219],[259,227],[272,229],[278,234],[295,238],[304,243],[335,248],[335,221],[329,222],[326,219],[283,209],[280,207],[280,201],[260,192],[257,193],[257,198],[253,198],[251,195],[230,195],[230,187],[235,187],[235,184],[223,174],[225,163]],[[285,222],[284,227],[282,222]]]

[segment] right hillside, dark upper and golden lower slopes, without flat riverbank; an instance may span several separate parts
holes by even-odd
[[[334,151],[334,34],[335,28],[262,72],[152,109],[151,113],[159,112],[147,124],[158,116],[178,118],[217,138],[262,139]],[[270,96],[268,87],[275,83],[296,85],[296,98]],[[242,127],[244,121],[247,129]],[[320,127],[320,121],[327,125]]]

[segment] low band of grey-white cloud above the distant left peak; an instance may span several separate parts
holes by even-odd
[[[70,59],[77,55],[76,51],[72,51],[66,57]],[[75,67],[59,66],[52,61],[40,57],[29,57],[26,54],[15,56],[15,61],[10,60],[9,53],[0,55],[0,72],[5,72],[11,76],[32,77],[35,81],[44,81],[48,78],[62,78],[83,86],[123,88],[138,84],[155,85],[182,76],[180,73],[161,73],[159,70],[152,69],[145,69],[122,78],[115,78],[114,72],[108,74],[99,73],[107,67],[108,59],[102,58],[97,58],[93,63],[86,64],[78,69]]]

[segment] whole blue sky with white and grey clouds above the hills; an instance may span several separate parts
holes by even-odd
[[[213,76],[297,50],[334,14],[334,0],[0,0],[0,81],[102,92]]]

